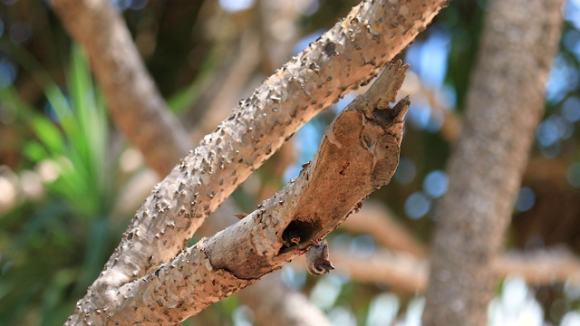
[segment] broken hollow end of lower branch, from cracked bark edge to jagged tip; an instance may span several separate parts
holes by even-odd
[[[215,269],[245,280],[270,273],[294,258],[295,249],[304,250],[311,240],[333,231],[364,198],[389,183],[399,163],[410,102],[404,98],[393,108],[388,103],[394,101],[408,67],[401,61],[389,65],[333,121],[316,157],[295,180],[204,243]],[[299,238],[297,245],[284,241],[288,233]]]

